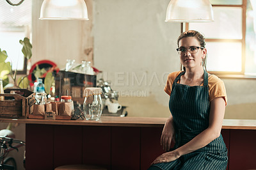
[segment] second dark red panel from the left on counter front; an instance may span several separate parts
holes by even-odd
[[[82,126],[54,126],[54,168],[82,164]]]

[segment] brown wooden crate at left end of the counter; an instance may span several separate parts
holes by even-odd
[[[10,94],[15,91],[15,94]],[[28,89],[5,89],[4,100],[0,100],[1,118],[28,118],[32,114],[35,104],[35,95]]]

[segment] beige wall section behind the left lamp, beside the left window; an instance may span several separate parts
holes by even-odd
[[[86,59],[92,61],[93,41],[92,10],[88,12],[91,20],[39,20],[40,8],[43,0],[33,1],[32,17],[32,58],[36,63],[42,59],[49,59],[60,68],[64,68],[67,59],[76,59],[81,63]],[[88,8],[92,8],[92,1],[86,1]]]

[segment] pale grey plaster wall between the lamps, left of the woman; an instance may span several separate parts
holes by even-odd
[[[95,66],[120,91],[120,102],[129,106],[130,116],[169,114],[163,88],[168,73],[179,70],[175,49],[180,24],[164,22],[168,3],[93,1]]]

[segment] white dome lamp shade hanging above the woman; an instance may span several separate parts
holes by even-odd
[[[212,22],[213,12],[209,0],[171,0],[165,22]]]

